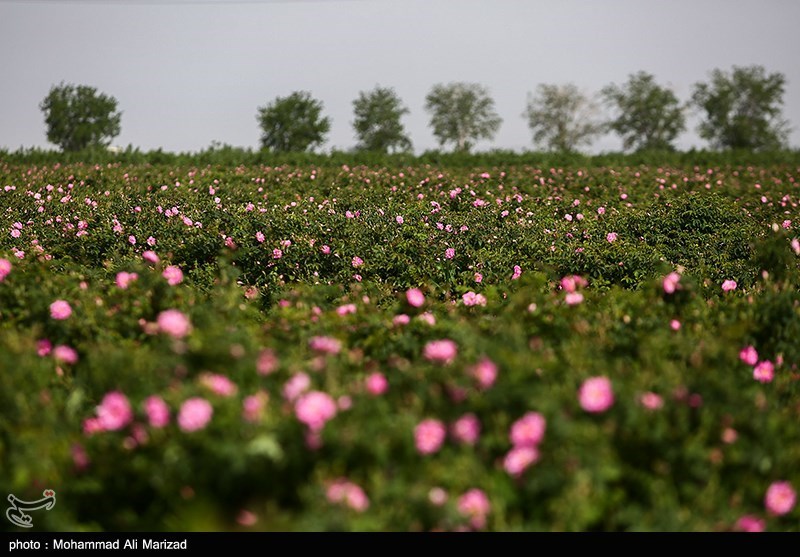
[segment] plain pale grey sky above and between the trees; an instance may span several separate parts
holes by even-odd
[[[438,147],[425,95],[488,88],[503,119],[476,150],[534,148],[522,117],[537,85],[595,95],[646,71],[688,101],[711,70],[761,65],[786,78],[800,146],[796,0],[0,0],[0,148],[49,147],[39,103],[61,82],[113,96],[113,145],[195,152],[259,147],[258,108],[294,91],[322,101],[321,151],[357,142],[353,100],[391,87],[421,153]],[[699,114],[676,144],[707,143]],[[616,151],[614,135],[587,152]]]

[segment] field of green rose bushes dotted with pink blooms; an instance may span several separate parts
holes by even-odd
[[[54,490],[51,531],[796,532],[799,182],[0,157],[0,494]]]

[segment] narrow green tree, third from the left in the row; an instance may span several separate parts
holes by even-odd
[[[411,150],[411,140],[400,122],[408,108],[393,89],[375,87],[368,93],[360,92],[353,101],[353,111],[359,149],[381,153]]]

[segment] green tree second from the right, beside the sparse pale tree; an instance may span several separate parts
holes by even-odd
[[[625,149],[672,151],[672,142],[686,129],[684,107],[651,74],[632,74],[622,86],[604,87],[602,95],[617,112],[609,127]]]

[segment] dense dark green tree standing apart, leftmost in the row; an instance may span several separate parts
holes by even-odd
[[[88,85],[61,82],[39,105],[47,125],[47,140],[63,151],[107,147],[119,135],[122,113],[117,100]]]

